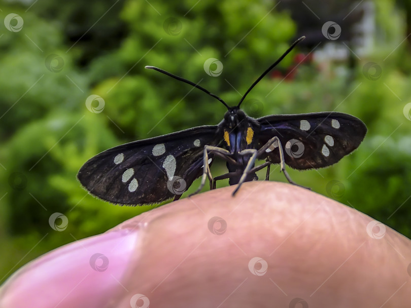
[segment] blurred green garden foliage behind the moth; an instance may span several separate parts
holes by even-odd
[[[21,31],[0,31],[2,281],[44,252],[153,208],[99,201],[76,174],[109,147],[221,121],[223,105],[144,66],[200,82],[234,105],[295,35],[295,22],[287,12],[270,11],[274,6],[246,0],[2,2],[3,18],[16,13],[24,20]],[[375,2],[375,49],[353,68],[313,63],[301,65],[292,81],[265,78],[244,108],[258,116],[335,110],[362,119],[369,131],[352,155],[330,168],[290,175],[411,237],[411,122],[403,114],[411,101],[411,56],[408,41],[401,43],[404,7]],[[208,58],[223,62],[220,76],[204,72]],[[371,61],[382,68],[376,80],[363,72]],[[91,94],[104,99],[102,112],[86,108]],[[214,167],[213,174],[224,172],[223,163]],[[278,171],[271,179],[285,181]],[[64,232],[50,228],[54,212],[67,216]]]

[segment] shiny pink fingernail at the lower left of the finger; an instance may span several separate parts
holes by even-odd
[[[139,258],[137,229],[87,238],[23,266],[0,288],[0,307],[101,307],[124,291],[122,278]]]

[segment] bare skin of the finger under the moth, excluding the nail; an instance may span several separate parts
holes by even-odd
[[[147,225],[146,257],[134,283],[150,303],[218,306],[241,286],[230,297],[236,305],[251,300],[288,306],[300,298],[335,306],[352,294],[346,302],[363,307],[381,305],[408,277],[409,240],[387,227],[385,240],[395,247],[390,249],[387,241],[370,237],[373,220],[361,212],[286,183],[247,182],[233,197],[234,189],[214,189],[139,216]],[[152,289],[144,289],[149,281]],[[399,291],[397,302],[406,294]]]

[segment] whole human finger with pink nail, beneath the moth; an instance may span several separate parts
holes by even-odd
[[[3,285],[0,307],[409,306],[410,240],[304,188],[234,188],[45,254]]]

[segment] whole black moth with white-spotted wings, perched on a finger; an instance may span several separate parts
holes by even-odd
[[[207,178],[210,188],[216,181],[229,179],[238,184],[257,180],[256,171],[271,164],[298,170],[322,168],[338,162],[356,149],[367,132],[364,123],[350,114],[315,112],[280,114],[253,119],[239,108],[246,95],[294,47],[291,47],[251,85],[234,107],[208,90],[153,66],[154,69],[183,81],[213,96],[228,111],[218,125],[199,126],[184,131],[133,141],[110,148],[88,160],[77,177],[92,195],[103,200],[128,205],[178,200],[193,181],[202,175],[198,193]],[[215,158],[226,161],[228,173],[212,177],[210,166]],[[256,160],[265,162],[255,167]]]

